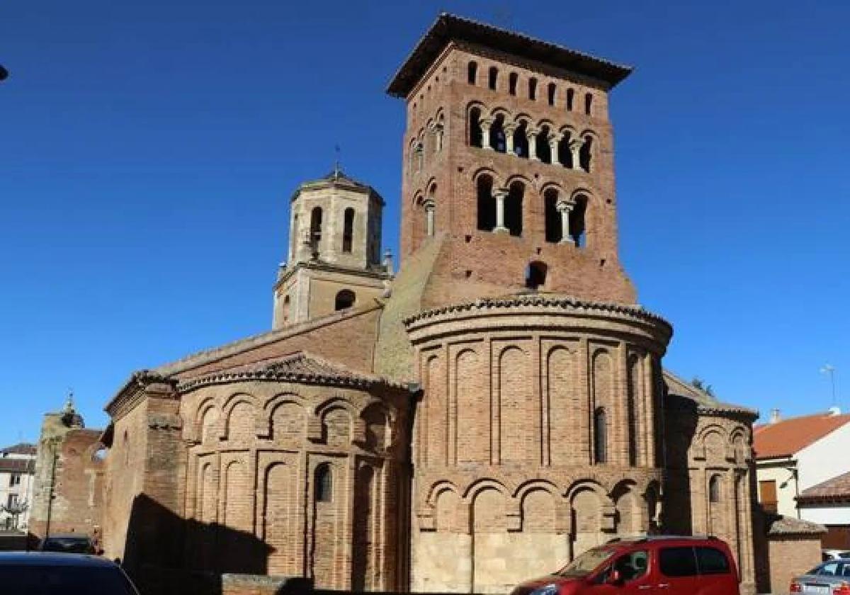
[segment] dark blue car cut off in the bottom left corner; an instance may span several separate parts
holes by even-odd
[[[139,595],[115,563],[76,553],[0,553],[0,585],[21,595]]]

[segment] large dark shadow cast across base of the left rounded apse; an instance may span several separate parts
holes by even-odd
[[[309,592],[305,579],[264,576],[270,550],[249,531],[181,519],[143,494],[133,500],[122,566],[142,595]]]

